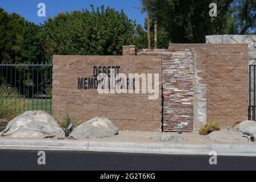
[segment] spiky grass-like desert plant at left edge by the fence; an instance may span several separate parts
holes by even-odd
[[[15,88],[10,88],[7,85],[0,86],[0,118],[10,119],[15,118],[21,114],[21,108],[27,105],[27,102],[20,102],[24,100],[25,96],[19,94]]]

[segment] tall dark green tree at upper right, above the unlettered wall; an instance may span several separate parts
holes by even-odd
[[[158,26],[173,43],[205,43],[205,35],[243,34],[255,28],[255,0],[145,1],[157,11]],[[209,16],[210,3],[217,3],[217,17]]]

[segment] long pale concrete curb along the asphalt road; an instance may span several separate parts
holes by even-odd
[[[0,139],[0,149],[179,155],[209,155],[210,151],[215,151],[218,155],[225,156],[256,156],[256,146],[249,145],[99,142],[93,140]]]

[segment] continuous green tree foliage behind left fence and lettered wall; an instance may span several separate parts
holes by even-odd
[[[0,8],[1,63],[43,63],[53,55],[121,55],[134,43],[135,21],[104,6],[61,13],[44,24]]]

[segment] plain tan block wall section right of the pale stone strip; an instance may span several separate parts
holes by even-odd
[[[231,127],[248,119],[248,45],[211,46],[207,56],[207,121]]]

